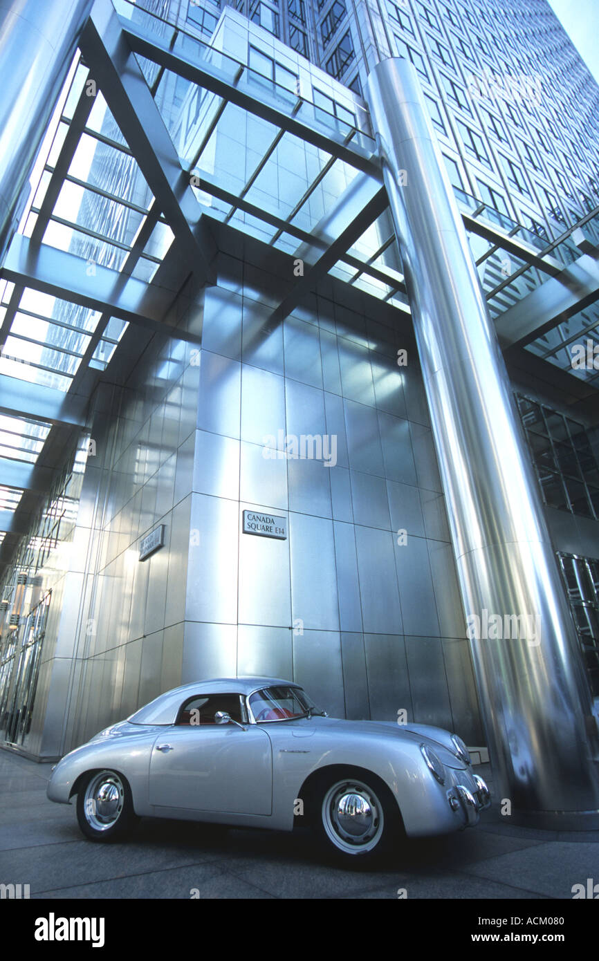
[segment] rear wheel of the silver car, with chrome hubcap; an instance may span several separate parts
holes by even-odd
[[[123,840],[139,819],[131,788],[115,771],[92,771],[79,785],[77,821],[90,841]]]

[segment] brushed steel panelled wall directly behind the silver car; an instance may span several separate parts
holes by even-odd
[[[406,382],[422,390],[413,343],[382,326],[383,309],[369,337],[370,312],[340,303],[332,283],[273,334],[263,300],[287,263],[270,277],[251,257],[251,244],[244,261],[223,257],[218,284],[191,311],[190,329],[201,325],[212,349],[190,360],[189,345],[169,340],[89,425],[98,453],[80,508],[90,559],[81,673],[53,753],[174,683],[248,673],[305,683],[336,716],[406,711],[479,744],[431,430],[405,416]],[[233,357],[216,349],[225,311]],[[244,349],[250,312],[262,327]],[[330,364],[321,373],[322,333],[333,376]],[[272,335],[292,343],[293,377],[276,352],[262,366],[245,359]],[[404,416],[377,407],[373,371],[387,380],[385,407],[391,398]],[[261,441],[279,431],[335,433],[337,463],[268,456]],[[244,510],[286,516],[287,540],[244,534]],[[164,548],[139,561],[140,538],[158,524]]]

